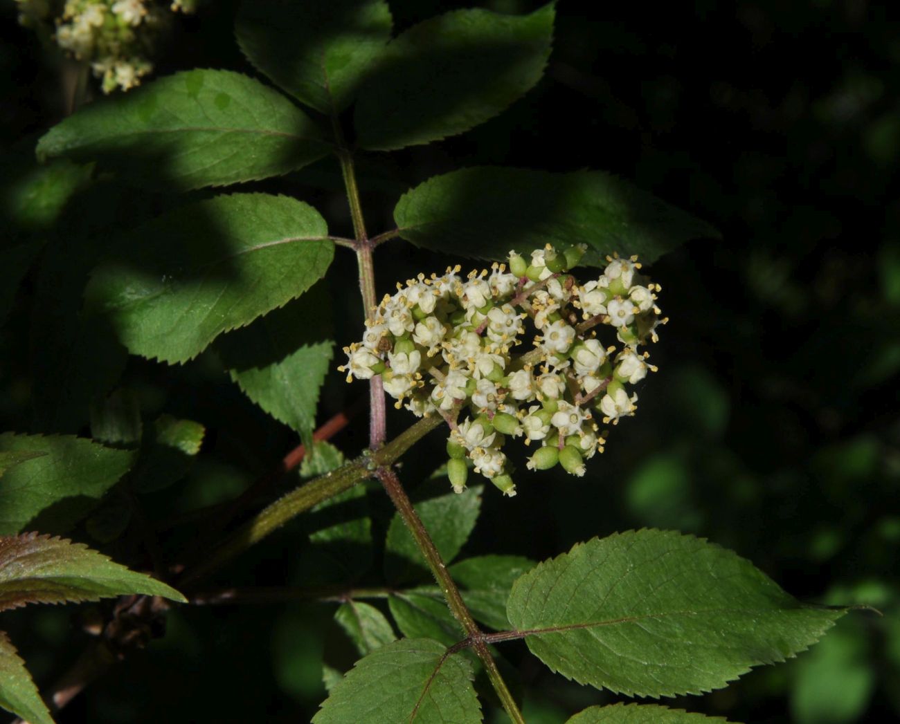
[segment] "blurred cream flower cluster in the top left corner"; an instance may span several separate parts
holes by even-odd
[[[164,4],[154,0],[16,0],[19,22],[50,34],[59,48],[90,64],[103,93],[130,90],[153,70],[153,46],[167,24]],[[175,0],[173,11],[194,2]]]

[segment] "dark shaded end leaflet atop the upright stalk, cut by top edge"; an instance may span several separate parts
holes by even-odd
[[[250,62],[317,111],[337,114],[353,101],[391,40],[381,0],[247,0],[235,31]]]

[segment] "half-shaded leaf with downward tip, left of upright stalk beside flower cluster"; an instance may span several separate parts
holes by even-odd
[[[215,345],[231,379],[247,397],[299,433],[308,449],[334,347],[326,292],[317,284],[300,299],[220,337]]]

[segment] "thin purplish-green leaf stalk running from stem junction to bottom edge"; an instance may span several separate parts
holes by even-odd
[[[378,479],[382,481],[382,485],[387,491],[388,496],[391,497],[394,507],[397,508],[397,512],[400,514],[403,522],[406,523],[407,528],[410,529],[413,540],[416,541],[416,545],[419,546],[422,556],[425,558],[426,563],[428,563],[428,568],[431,569],[431,573],[434,575],[435,580],[437,580],[437,585],[439,585],[444,592],[444,597],[446,598],[447,605],[450,607],[450,612],[452,612],[456,620],[462,624],[463,630],[468,636],[467,640],[475,651],[475,654],[482,660],[484,670],[488,673],[488,678],[491,680],[494,691],[497,692],[497,695],[500,697],[500,703],[503,704],[503,709],[509,714],[509,719],[516,722],[516,724],[525,724],[522,712],[518,711],[516,700],[513,699],[512,693],[509,692],[509,687],[506,682],[503,681],[503,677],[500,675],[500,669],[497,668],[497,662],[495,662],[494,657],[491,656],[491,649],[488,648],[488,645],[484,640],[484,633],[478,628],[478,624],[475,623],[472,613],[469,612],[468,607],[465,605],[463,596],[459,592],[459,588],[456,587],[453,577],[447,571],[444,560],[441,559],[441,554],[438,552],[434,541],[432,541],[431,536],[428,535],[428,531],[422,523],[422,519],[419,518],[419,514],[416,513],[416,509],[412,506],[410,497],[407,496],[406,491],[401,485],[400,478],[397,478],[397,474],[387,466],[380,467],[375,471],[375,474],[378,476]]]

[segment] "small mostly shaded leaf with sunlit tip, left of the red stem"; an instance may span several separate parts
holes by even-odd
[[[131,475],[131,487],[141,493],[150,493],[184,478],[193,466],[205,434],[206,428],[193,420],[158,416],[150,439],[140,451],[140,459]]]

